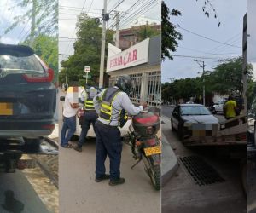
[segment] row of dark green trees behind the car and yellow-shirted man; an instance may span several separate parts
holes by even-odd
[[[242,58],[233,58],[213,67],[212,72],[206,72],[200,78],[184,78],[173,83],[162,84],[162,98],[166,101],[189,100],[189,97],[199,98],[205,85],[206,95],[214,93],[221,95],[242,95]],[[253,83],[252,66],[247,67],[248,97],[256,90]],[[204,80],[205,79],[205,83]]]

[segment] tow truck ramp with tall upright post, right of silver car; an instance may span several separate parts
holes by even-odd
[[[243,18],[243,64],[242,64],[242,83],[243,83],[243,109],[239,116],[219,123],[218,130],[211,136],[206,136],[206,130],[198,132],[192,130],[189,138],[183,139],[183,144],[187,147],[193,146],[218,146],[228,147],[227,154],[230,158],[240,159],[241,182],[245,192],[247,192],[247,15]],[[256,149],[255,149],[256,150]]]

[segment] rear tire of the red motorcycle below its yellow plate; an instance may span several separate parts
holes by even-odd
[[[147,158],[147,157],[146,157]],[[155,190],[161,189],[161,170],[160,170],[160,164],[154,164],[153,158],[147,158],[148,159],[148,176],[150,177],[150,181],[154,186]]]

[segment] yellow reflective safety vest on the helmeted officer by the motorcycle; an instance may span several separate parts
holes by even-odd
[[[109,123],[113,120],[112,118],[113,101],[115,100],[119,92],[120,92],[119,89],[113,87],[113,88],[106,89],[102,95],[100,118],[108,121]],[[123,127],[128,119],[127,112],[125,112],[124,109],[120,110],[118,119],[119,119],[120,127]]]

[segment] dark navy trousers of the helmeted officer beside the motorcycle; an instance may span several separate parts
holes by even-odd
[[[111,127],[96,121],[96,178],[106,173],[105,160],[110,159],[110,180],[120,177],[122,153],[121,134],[117,127]]]

